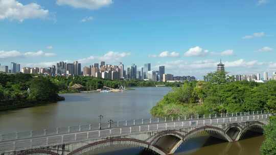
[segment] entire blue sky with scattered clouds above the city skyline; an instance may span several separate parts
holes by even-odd
[[[0,0],[0,63],[150,62],[199,79],[276,71],[276,2]]]

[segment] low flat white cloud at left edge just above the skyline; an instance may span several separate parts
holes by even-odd
[[[21,53],[20,51],[17,50],[11,50],[11,51],[4,51],[0,50],[0,58],[16,58],[16,57],[53,57],[56,56],[54,53],[44,53],[42,50],[36,51],[36,52],[26,52],[26,53]]]

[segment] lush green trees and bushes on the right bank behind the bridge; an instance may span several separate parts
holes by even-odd
[[[186,82],[164,96],[151,114],[176,117],[276,110],[276,81],[231,82],[224,72],[210,73],[210,82]]]

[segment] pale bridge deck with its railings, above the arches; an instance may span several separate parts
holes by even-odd
[[[167,120],[160,122],[159,119],[155,122],[150,120],[149,123],[145,124],[142,120],[143,124],[136,124],[133,121],[132,124],[125,126],[112,126],[111,128],[105,128],[103,130],[91,130],[91,126],[88,126],[87,131],[81,131],[80,126],[78,126],[78,131],[72,132],[70,131],[70,127],[68,131],[65,133],[59,132],[61,130],[56,130],[56,133],[52,133],[47,135],[45,130],[36,131],[36,132],[22,132],[15,134],[6,134],[1,136],[0,141],[0,153],[9,152],[9,151],[18,151],[25,150],[31,148],[39,148],[46,146],[54,146],[66,143],[74,143],[81,142],[86,140],[97,140],[104,139],[108,137],[117,137],[117,136],[125,136],[131,134],[139,134],[139,133],[147,133],[147,132],[156,132],[156,131],[166,131],[166,130],[177,130],[179,128],[189,128],[189,127],[201,127],[205,125],[219,125],[224,123],[241,123],[241,122],[249,122],[249,121],[257,121],[257,120],[266,120],[269,118],[271,114],[257,114],[257,115],[228,115],[227,117],[221,118],[202,118],[199,119],[190,119],[181,120],[180,118],[176,120],[171,120],[168,122]],[[29,134],[31,133],[31,134]],[[27,135],[27,136],[26,136]],[[25,136],[25,137],[24,137]]]

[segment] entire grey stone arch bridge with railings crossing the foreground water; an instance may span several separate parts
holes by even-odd
[[[272,114],[244,113],[222,117],[190,119],[176,119],[167,121],[120,126],[109,126],[102,130],[70,132],[70,127],[65,133],[57,129],[55,134],[23,133],[2,135],[0,141],[0,154],[52,154],[52,155],[77,155],[95,149],[104,149],[108,146],[131,145],[150,149],[158,154],[173,154],[185,141],[198,134],[208,133],[213,137],[228,142],[238,141],[248,131],[262,132],[263,126],[268,123]],[[26,134],[26,133],[25,133]]]

